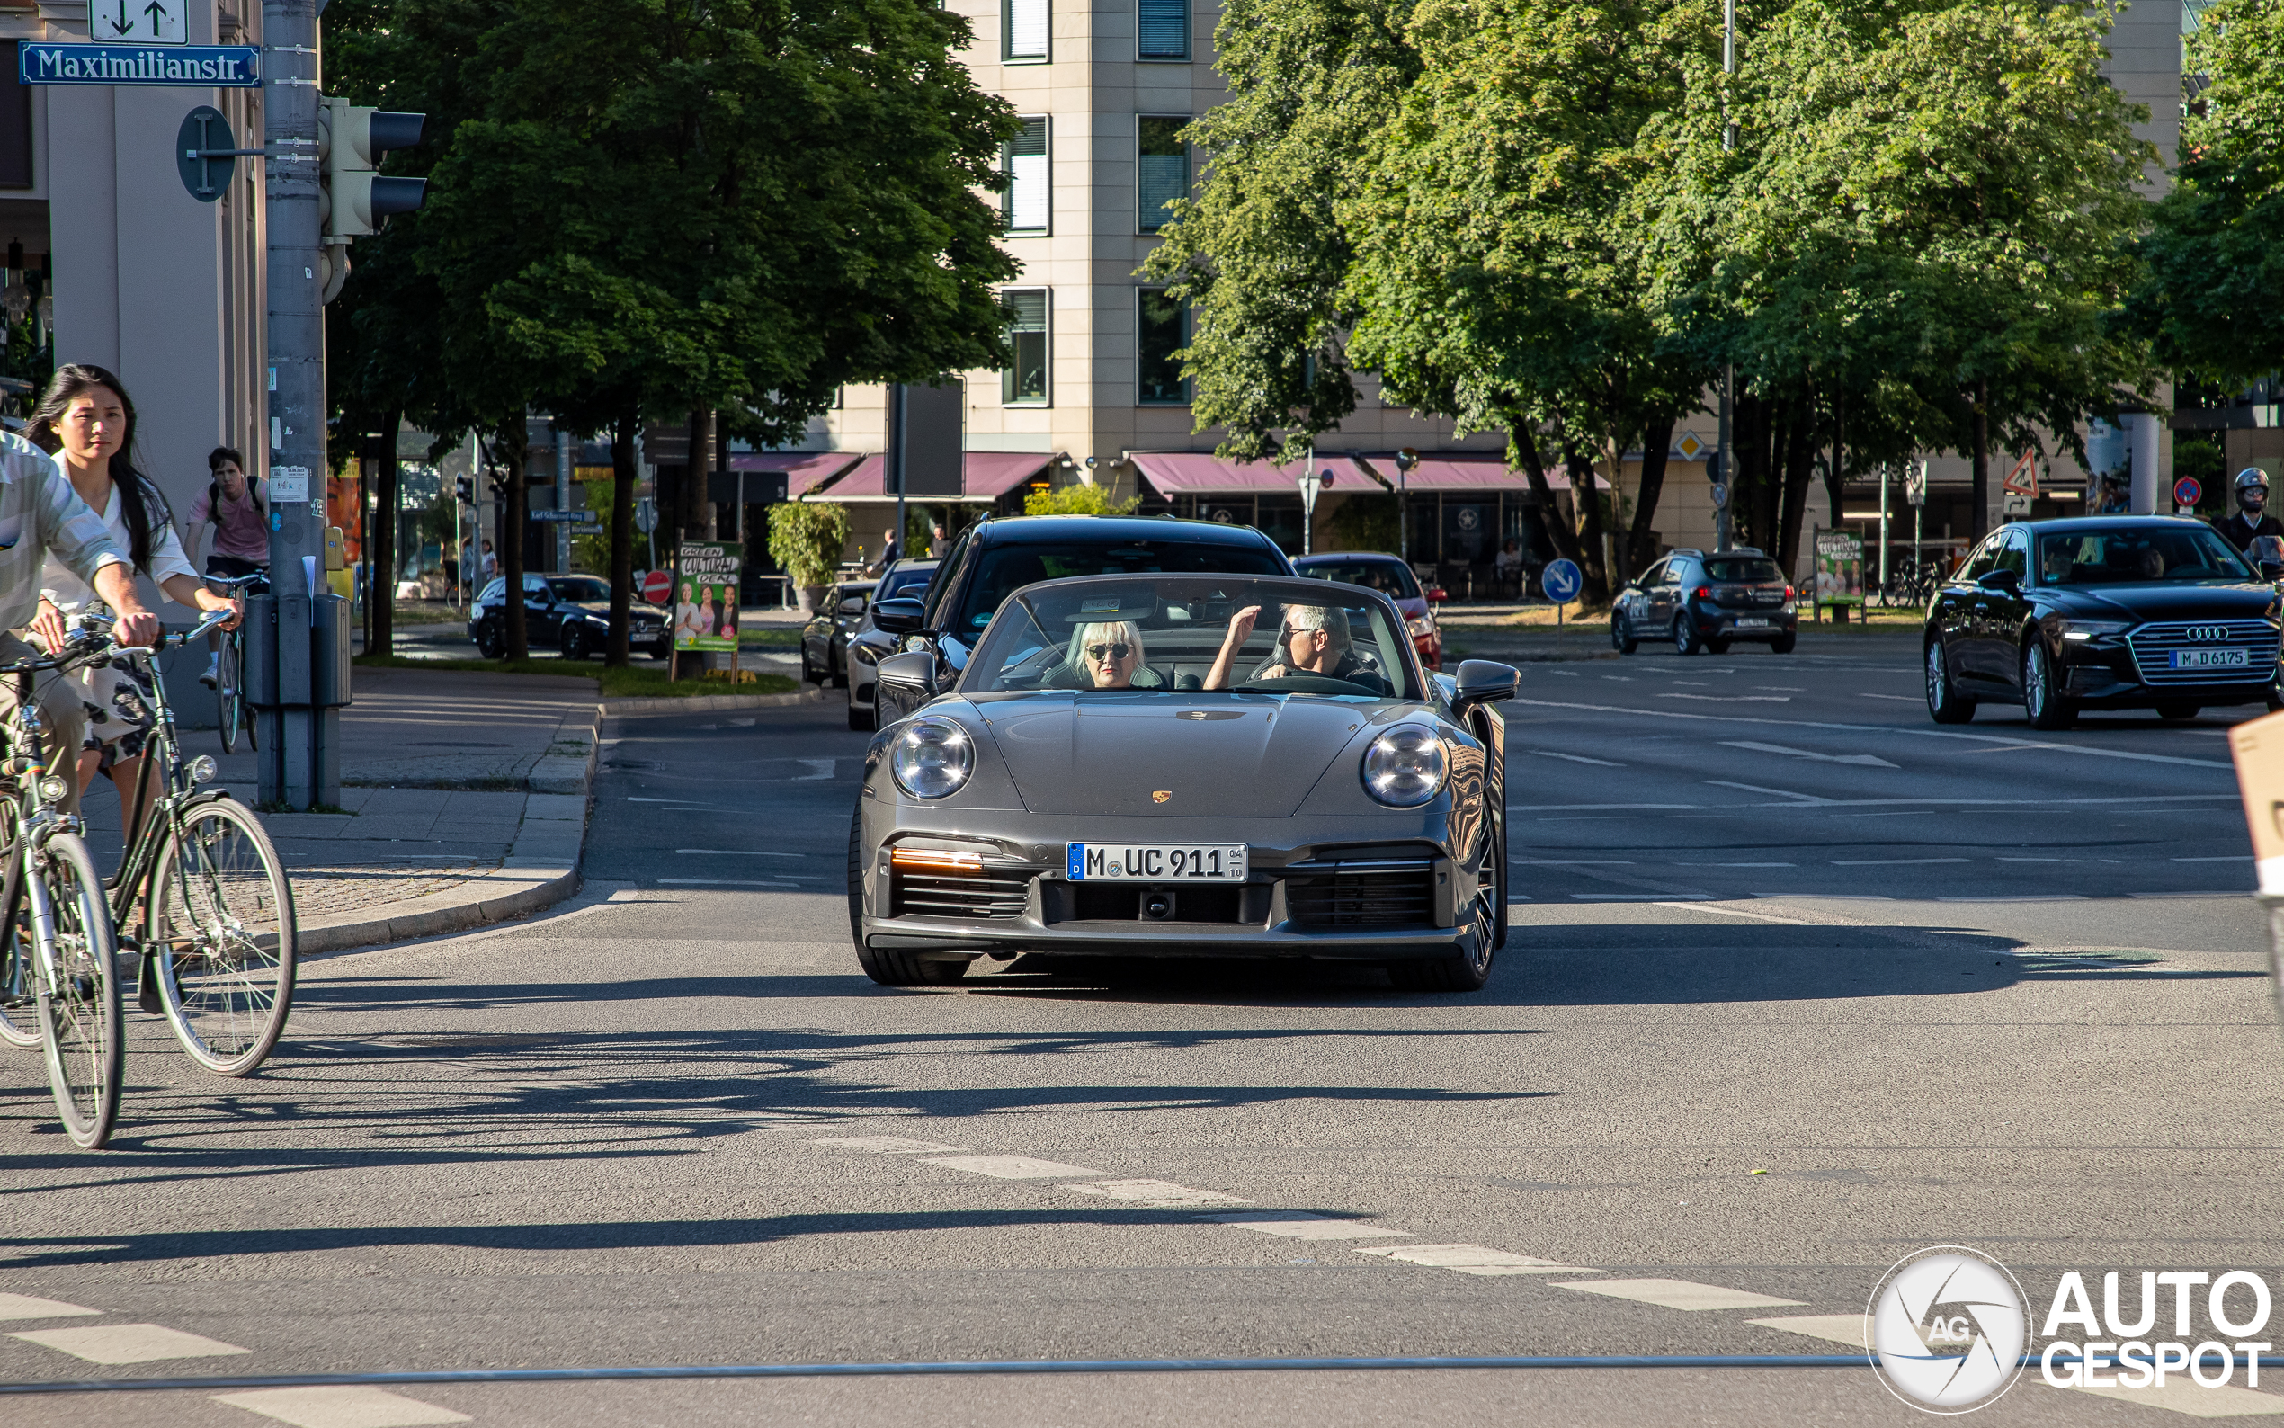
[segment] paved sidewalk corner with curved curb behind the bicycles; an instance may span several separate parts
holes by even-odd
[[[260,813],[286,861],[304,953],[434,937],[578,889],[601,708],[592,679],[359,669],[340,711],[340,807]],[[256,754],[185,731],[256,802]],[[87,841],[119,859],[119,800],[87,793]]]

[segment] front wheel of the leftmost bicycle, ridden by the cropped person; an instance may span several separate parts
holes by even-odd
[[[96,877],[96,864],[78,836],[55,834],[32,861],[27,873],[37,884],[25,893],[46,889],[48,912],[55,918],[55,941],[46,948],[53,980],[39,998],[48,1088],[55,1092],[55,1108],[64,1115],[71,1142],[96,1149],[112,1138],[119,1076],[126,1067],[112,909],[103,902],[103,880]]]

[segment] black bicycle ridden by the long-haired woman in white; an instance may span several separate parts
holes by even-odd
[[[155,649],[112,658],[155,660],[169,647],[206,637],[228,615],[210,615]],[[119,875],[107,884],[112,921],[142,923],[128,950],[142,955],[137,1003],[164,1012],[183,1051],[217,1076],[263,1065],[292,1010],[297,918],[292,884],[254,809],[226,788],[206,788],[215,761],[183,761],[153,669],[153,724],[135,781],[137,825],[126,834]],[[164,779],[164,788],[153,784]],[[155,795],[155,797],[153,797]]]

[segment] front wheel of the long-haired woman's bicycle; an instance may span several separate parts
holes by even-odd
[[[270,834],[238,800],[199,804],[162,834],[144,896],[144,966],[167,1021],[217,1076],[263,1065],[292,1010],[292,887]]]

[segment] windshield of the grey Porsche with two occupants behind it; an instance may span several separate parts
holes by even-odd
[[[1416,699],[1405,649],[1389,608],[1341,585],[1073,580],[1000,610],[959,688]]]

